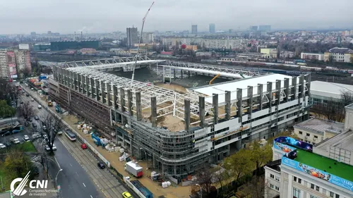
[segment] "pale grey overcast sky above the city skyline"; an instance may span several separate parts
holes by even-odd
[[[0,34],[126,31],[153,0],[1,0]],[[353,0],[156,0],[145,31],[353,27]]]

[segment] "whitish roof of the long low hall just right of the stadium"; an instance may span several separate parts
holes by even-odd
[[[310,92],[313,95],[341,99],[342,92],[353,92],[353,85],[316,80],[311,82],[310,89]]]

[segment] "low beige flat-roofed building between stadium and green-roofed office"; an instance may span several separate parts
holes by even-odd
[[[344,131],[345,123],[337,123],[321,118],[311,118],[294,125],[294,133],[298,136],[298,139],[313,145]]]

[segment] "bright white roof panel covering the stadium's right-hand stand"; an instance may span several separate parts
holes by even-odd
[[[231,100],[237,99],[237,89],[243,89],[243,97],[248,95],[248,86],[253,86],[253,94],[258,94],[258,84],[263,84],[263,91],[267,90],[267,82],[276,82],[276,80],[282,80],[281,87],[285,87],[285,78],[289,78],[289,86],[292,85],[292,76],[282,75],[273,73],[270,75],[262,75],[254,78],[247,78],[242,80],[237,80],[233,82],[219,83],[215,85],[205,86],[193,89],[196,92],[205,94],[206,96],[212,96],[213,94],[225,94],[226,91],[230,91]],[[294,77],[295,78],[295,77]],[[297,84],[299,84],[299,78],[297,78]],[[273,83],[272,89],[275,89],[276,84]],[[205,101],[212,104],[212,97],[206,97]],[[218,104],[224,104],[225,97],[219,96]]]

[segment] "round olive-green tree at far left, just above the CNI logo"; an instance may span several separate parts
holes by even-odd
[[[5,170],[17,178],[23,177],[32,168],[32,161],[22,151],[13,149],[8,152],[4,161]]]

